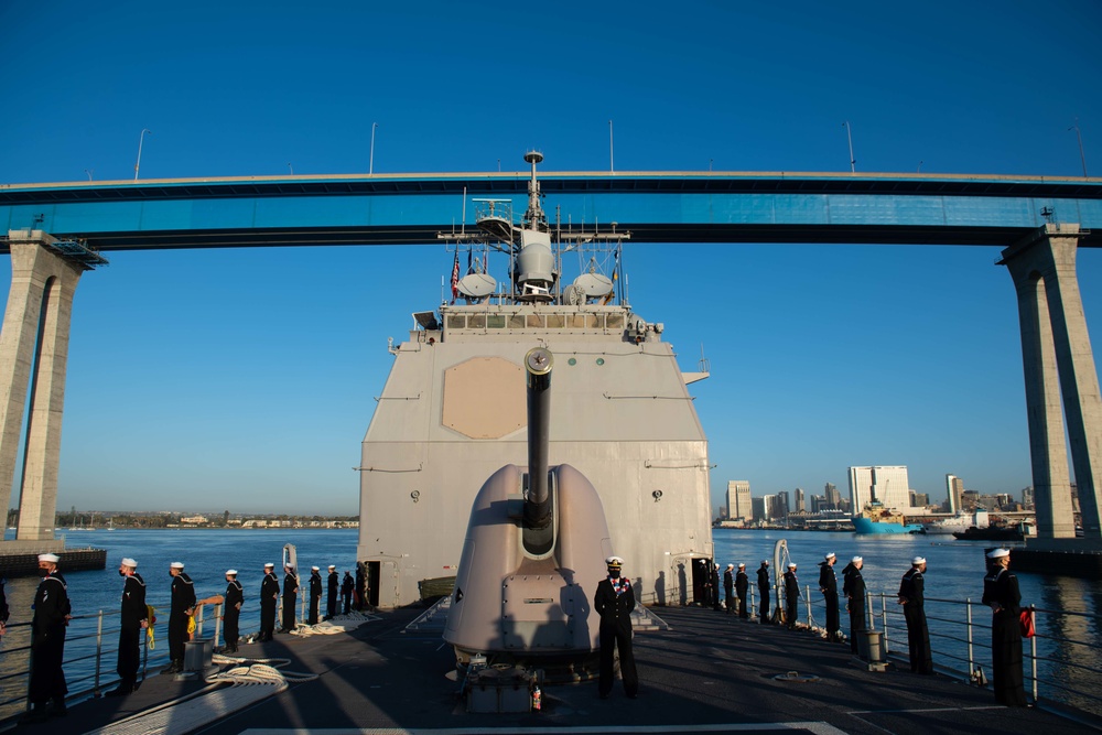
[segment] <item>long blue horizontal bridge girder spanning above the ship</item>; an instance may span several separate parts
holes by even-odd
[[[417,245],[458,230],[466,197],[523,210],[529,174],[431,173],[0,185],[0,227],[100,251]],[[720,172],[541,172],[552,221],[633,242],[1006,247],[1047,223],[1102,246],[1102,179]],[[474,225],[466,206],[466,227]],[[0,242],[0,251],[6,251]]]

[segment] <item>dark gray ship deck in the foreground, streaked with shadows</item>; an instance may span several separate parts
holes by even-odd
[[[433,626],[402,633],[420,610],[398,610],[354,634],[305,639],[277,636],[241,648],[258,658],[287,657],[289,670],[318,674],[281,694],[195,732],[212,735],[290,735],[371,731],[475,733],[1082,733],[1040,709],[997,706],[990,690],[948,677],[889,669],[872,673],[854,664],[849,647],[807,633],[743,621],[701,608],[661,608],[670,625],[636,636],[641,680],[638,700],[617,685],[599,700],[595,683],[544,690],[544,709],[531,714],[467,714],[450,649]],[[818,682],[781,683],[798,671]],[[196,691],[199,683],[151,677],[125,699],[76,704],[65,718],[20,727],[33,734],[71,735],[102,727],[134,711]]]

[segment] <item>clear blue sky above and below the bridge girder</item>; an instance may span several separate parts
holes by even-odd
[[[371,6],[371,7],[369,7]],[[0,3],[0,183],[615,167],[1102,173],[1102,3]],[[553,206],[549,199],[549,206]],[[997,248],[628,246],[695,383],[713,496],[1030,484]],[[354,514],[442,246],[128,252],[86,275],[58,506]],[[0,296],[10,280],[0,263]],[[388,278],[378,278],[389,273]],[[1102,331],[1102,253],[1080,252]],[[398,288],[398,287],[401,288]],[[1095,339],[1095,345],[1099,341]]]

